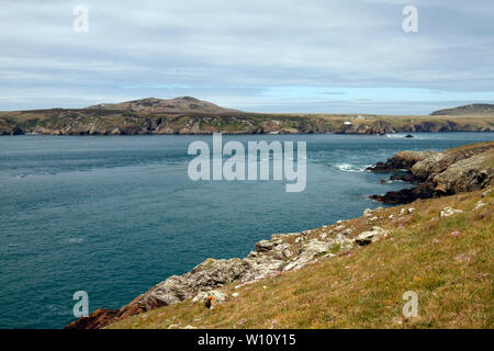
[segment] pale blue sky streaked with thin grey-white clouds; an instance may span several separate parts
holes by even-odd
[[[417,32],[403,30],[407,5]],[[494,103],[492,0],[0,0],[0,29],[1,111],[182,95],[267,113]]]

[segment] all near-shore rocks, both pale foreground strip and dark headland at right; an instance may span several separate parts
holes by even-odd
[[[371,171],[401,171],[403,180],[419,183],[413,190],[374,195],[386,203],[412,202],[489,186],[493,178],[494,141],[468,145],[446,151],[403,151],[386,162],[378,162]],[[403,170],[404,173],[403,173]],[[398,177],[398,176],[395,176]],[[414,207],[402,208],[397,217],[405,218]],[[444,208],[449,216],[453,208]],[[444,214],[445,213],[445,214]],[[120,309],[98,309],[74,321],[68,329],[100,329],[128,316],[183,301],[202,302],[213,296],[222,303],[228,296],[222,287],[235,288],[262,279],[300,270],[307,264],[341,254],[352,254],[358,247],[385,238],[388,230],[375,225],[384,208],[366,210],[361,218],[338,220],[336,224],[302,233],[277,234],[255,245],[244,259],[207,259],[183,275],[172,275],[135,297]],[[390,216],[391,218],[392,216]],[[364,226],[361,223],[364,223]]]

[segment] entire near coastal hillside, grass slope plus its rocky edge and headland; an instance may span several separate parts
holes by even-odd
[[[209,259],[68,328],[492,328],[493,150],[490,141],[398,152],[374,168],[419,166],[423,184],[441,185],[426,196],[435,199],[273,235],[244,259]],[[406,291],[422,296],[418,319],[400,314]]]

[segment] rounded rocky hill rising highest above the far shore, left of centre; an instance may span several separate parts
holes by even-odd
[[[176,99],[146,98],[121,103],[100,103],[89,106],[91,110],[119,110],[134,112],[166,112],[166,113],[228,113],[238,112],[232,109],[221,107],[214,103],[202,101],[191,97]]]

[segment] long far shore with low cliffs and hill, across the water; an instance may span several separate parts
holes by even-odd
[[[205,112],[211,111],[211,112]],[[143,99],[87,109],[0,112],[0,135],[136,134],[392,134],[493,132],[491,116],[385,116],[260,114],[233,111],[193,98]]]

